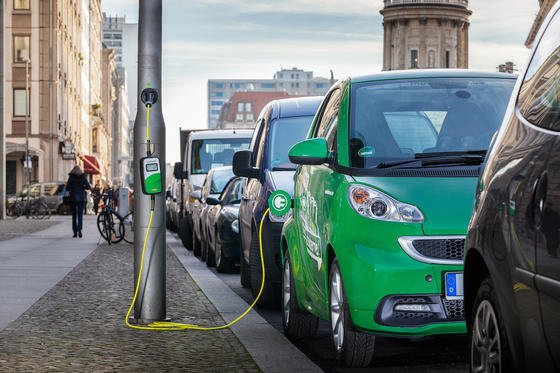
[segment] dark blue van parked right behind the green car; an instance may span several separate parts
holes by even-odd
[[[258,227],[272,192],[293,189],[296,166],[288,159],[290,147],[305,138],[322,97],[302,97],[268,103],[259,118],[250,150],[236,153],[233,171],[247,178],[239,206],[241,234],[241,284],[250,287],[253,297],[261,286],[261,259]],[[280,232],[287,216],[270,216],[263,225],[265,285],[259,304],[271,306],[280,298]]]

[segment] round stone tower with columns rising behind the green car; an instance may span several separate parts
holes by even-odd
[[[468,68],[468,0],[383,3],[383,70]]]

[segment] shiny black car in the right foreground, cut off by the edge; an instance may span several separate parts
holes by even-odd
[[[536,40],[469,224],[472,371],[560,371],[560,4]]]

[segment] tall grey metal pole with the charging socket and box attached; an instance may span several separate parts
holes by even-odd
[[[138,19],[138,92],[134,121],[134,286],[136,286],[142,250],[151,210],[151,196],[141,188],[140,159],[146,157],[147,108],[140,100],[141,92],[152,88],[159,93],[159,100],[150,109],[150,143],[153,157],[160,159],[161,179],[165,180],[165,124],[161,111],[161,0],[140,0]],[[164,320],[165,309],[165,199],[155,195],[154,213],[146,242],[144,265],[134,303],[137,323]]]

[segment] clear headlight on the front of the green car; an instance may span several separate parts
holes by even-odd
[[[360,215],[370,219],[422,223],[424,216],[416,206],[402,203],[385,193],[364,185],[351,185],[348,200]]]

